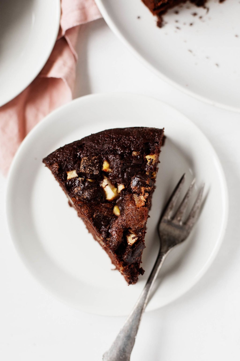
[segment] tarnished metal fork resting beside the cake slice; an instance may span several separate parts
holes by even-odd
[[[130,361],[130,356],[133,346],[135,344],[135,338],[139,329],[141,316],[148,303],[150,292],[152,290],[154,281],[157,278],[159,270],[162,267],[163,262],[170,250],[177,244],[183,242],[189,236],[191,230],[193,229],[193,226],[198,219],[204,184],[199,190],[198,196],[196,197],[195,203],[189,213],[189,216],[184,221],[184,216],[189,205],[191,193],[194,188],[195,179],[191,183],[177,211],[174,213],[174,209],[180,196],[184,181],[185,174],[182,176],[177,186],[175,187],[175,190],[173,191],[162,213],[162,216],[159,219],[158,235],[160,241],[160,248],[157,260],[155,261],[146,285],[139,299],[137,300],[136,305],[132,309],[132,312],[126,319],[122,329],[117,335],[117,338],[113,342],[110,349],[104,353],[103,361]]]

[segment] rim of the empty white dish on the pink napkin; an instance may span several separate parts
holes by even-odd
[[[46,50],[46,54],[43,58],[42,65],[38,66],[35,71],[32,72],[32,76],[28,77],[25,82],[23,82],[23,85],[21,87],[21,90],[17,90],[13,92],[13,95],[6,97],[3,101],[0,99],[0,107],[9,103],[9,101],[13,100],[15,97],[17,97],[19,94],[21,94],[32,82],[33,80],[39,75],[40,71],[44,68],[49,56],[51,55],[51,52],[53,51],[54,45],[56,43],[56,40],[58,38],[59,33],[59,27],[60,27],[60,18],[61,18],[61,3],[60,0],[51,0],[54,1],[56,7],[55,7],[55,31],[53,32],[53,42],[49,44],[48,49]],[[20,87],[19,87],[20,88]]]

